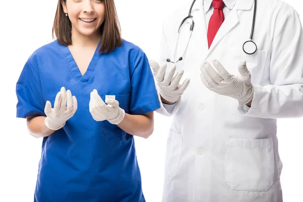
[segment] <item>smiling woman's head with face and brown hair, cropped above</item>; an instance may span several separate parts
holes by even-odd
[[[102,42],[98,51],[104,53],[121,46],[120,24],[114,1],[59,0],[53,37],[55,33],[60,44],[72,45],[72,32],[73,37],[94,34],[98,38],[101,35]]]

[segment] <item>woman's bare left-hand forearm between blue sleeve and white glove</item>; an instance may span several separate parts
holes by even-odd
[[[47,137],[56,131],[46,127],[44,123],[45,118],[43,116],[27,118],[27,128],[32,136],[37,138]]]

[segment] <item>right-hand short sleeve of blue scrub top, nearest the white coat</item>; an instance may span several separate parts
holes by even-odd
[[[160,108],[154,76],[148,59],[140,48],[132,55],[130,114],[146,114]]]

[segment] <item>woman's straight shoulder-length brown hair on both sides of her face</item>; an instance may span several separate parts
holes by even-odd
[[[56,16],[53,25],[53,39],[56,35],[57,41],[62,45],[72,44],[72,24],[65,16],[62,4],[66,0],[58,0]],[[121,27],[117,16],[114,0],[104,0],[105,20],[100,26],[101,44],[98,52],[110,53],[116,47],[122,45]]]

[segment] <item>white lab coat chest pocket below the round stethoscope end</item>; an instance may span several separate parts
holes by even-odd
[[[237,61],[236,67],[238,67],[241,61],[246,61],[247,69],[251,74],[251,83],[260,84],[266,64],[267,51],[257,51],[252,55],[245,54],[243,50],[235,53],[234,60]],[[237,74],[239,73],[237,72]]]

